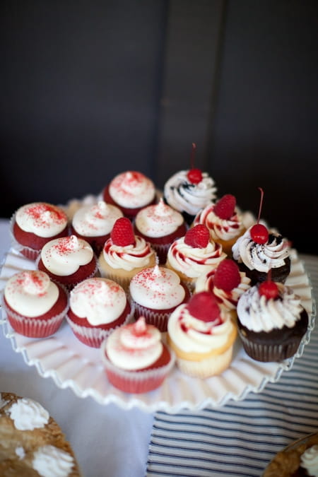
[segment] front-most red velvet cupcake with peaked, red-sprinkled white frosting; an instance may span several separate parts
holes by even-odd
[[[175,356],[161,341],[160,331],[146,324],[144,317],[112,331],[101,351],[110,383],[129,393],[158,388],[175,364]]]

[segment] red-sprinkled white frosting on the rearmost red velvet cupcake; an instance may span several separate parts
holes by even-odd
[[[128,171],[112,179],[108,192],[119,206],[139,208],[153,201],[155,185],[141,172]]]

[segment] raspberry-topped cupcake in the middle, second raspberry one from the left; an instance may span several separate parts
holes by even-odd
[[[212,242],[206,226],[199,224],[172,243],[166,266],[177,272],[181,280],[193,289],[196,278],[215,269],[225,257],[222,245]]]

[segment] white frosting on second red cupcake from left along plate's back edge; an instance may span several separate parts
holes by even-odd
[[[72,225],[80,235],[99,237],[109,234],[117,218],[122,216],[118,207],[99,201],[98,204],[79,208],[73,216]]]

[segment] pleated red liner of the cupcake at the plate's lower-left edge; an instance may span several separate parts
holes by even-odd
[[[9,310],[4,299],[2,299],[2,307],[6,311],[8,322],[18,334],[28,336],[28,338],[47,338],[47,336],[52,336],[52,334],[56,333],[61,326],[66,312],[69,309],[69,302],[61,313],[49,319],[23,317]]]

